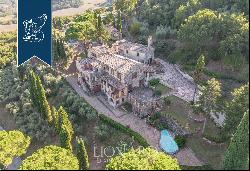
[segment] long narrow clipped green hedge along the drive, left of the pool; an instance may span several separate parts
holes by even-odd
[[[115,122],[114,120],[104,116],[103,114],[99,114],[99,118],[102,122],[107,123],[109,125],[111,125],[112,127],[118,129],[119,131],[122,131],[124,133],[129,134],[130,136],[134,137],[134,139],[143,147],[148,147],[149,144],[147,143],[147,141],[137,132],[131,130],[128,127],[123,126],[120,123]]]

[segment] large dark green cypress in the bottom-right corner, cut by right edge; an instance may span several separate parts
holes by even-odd
[[[223,168],[225,170],[245,170],[249,155],[249,111],[243,116],[227,149]]]

